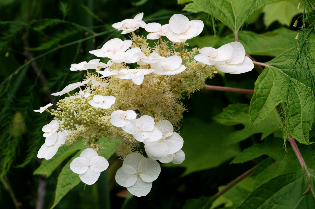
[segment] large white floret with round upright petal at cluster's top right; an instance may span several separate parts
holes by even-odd
[[[189,19],[182,14],[174,14],[169,19],[169,31],[166,37],[170,41],[182,42],[199,35],[202,29],[203,21],[189,21]]]

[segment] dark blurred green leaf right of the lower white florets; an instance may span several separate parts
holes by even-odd
[[[167,163],[164,166],[186,167],[186,174],[214,168],[236,156],[240,150],[238,144],[221,146],[222,138],[233,131],[233,127],[218,123],[204,123],[196,118],[185,118],[180,129],[184,139],[186,158],[181,164]]]

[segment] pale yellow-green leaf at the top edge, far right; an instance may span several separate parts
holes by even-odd
[[[298,0],[289,0],[267,4],[263,8],[266,27],[268,28],[274,21],[290,27],[292,18],[297,14],[303,13],[302,7],[300,9],[297,8],[299,2]]]

